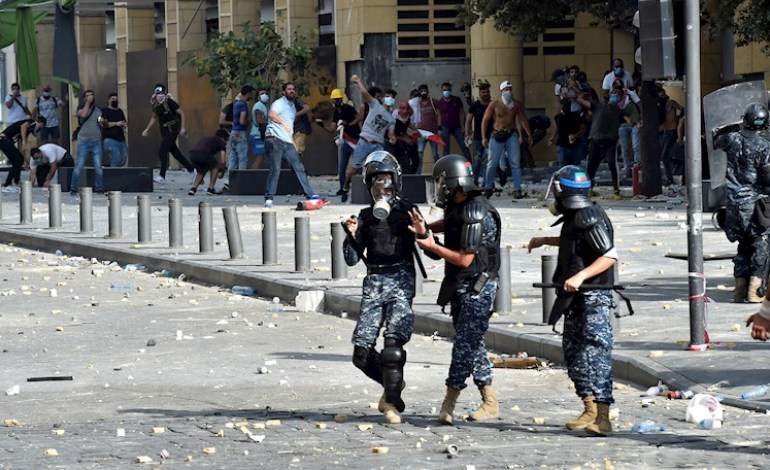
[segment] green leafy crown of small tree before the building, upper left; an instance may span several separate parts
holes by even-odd
[[[302,44],[304,38],[295,36],[293,45],[285,46],[272,23],[263,23],[256,31],[244,24],[240,34],[230,31],[210,39],[206,52],[189,61],[222,96],[243,85],[264,87],[276,96],[286,80],[294,81],[299,93],[305,94],[313,52]]]

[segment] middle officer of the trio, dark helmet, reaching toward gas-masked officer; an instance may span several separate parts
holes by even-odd
[[[492,364],[484,347],[484,334],[497,293],[500,215],[476,187],[471,163],[460,155],[447,155],[436,162],[433,183],[435,203],[444,209],[444,218],[426,226],[419,213],[413,211],[411,215],[417,244],[428,256],[445,260],[437,303],[442,309],[450,305],[455,327],[439,421],[452,424],[457,398],[471,375],[481,392],[482,404],[470,419],[497,418],[500,407],[492,388]],[[444,233],[443,245],[432,232]]]

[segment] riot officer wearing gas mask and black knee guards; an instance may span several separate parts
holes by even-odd
[[[345,261],[353,266],[362,260],[366,277],[361,296],[361,314],[353,333],[353,364],[384,393],[379,410],[389,424],[401,422],[405,404],[406,344],[412,336],[415,292],[414,233],[409,230],[410,211],[416,206],[399,195],[401,168],[385,151],[370,154],[364,163],[364,181],[372,196],[369,207],[345,221]],[[375,350],[384,328],[382,353]]]

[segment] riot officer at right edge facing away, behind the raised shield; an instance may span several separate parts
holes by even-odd
[[[727,154],[725,188],[727,207],[723,228],[727,239],[738,242],[733,258],[735,302],[762,301],[768,263],[768,204],[770,142],[762,136],[768,128],[768,110],[752,103],[743,115],[741,129],[719,136],[715,147]]]

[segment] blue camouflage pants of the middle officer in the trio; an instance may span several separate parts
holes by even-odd
[[[471,375],[477,387],[492,384],[492,362],[484,346],[484,334],[489,329],[489,317],[496,293],[497,281],[490,280],[478,294],[470,289],[461,290],[452,299],[455,343],[452,347],[449,377],[446,379],[447,387],[462,390]]]

